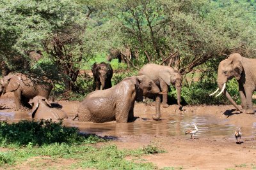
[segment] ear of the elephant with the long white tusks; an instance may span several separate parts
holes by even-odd
[[[236,80],[241,78],[241,73],[243,71],[242,56],[239,53],[233,53],[228,57],[233,64],[234,76]]]

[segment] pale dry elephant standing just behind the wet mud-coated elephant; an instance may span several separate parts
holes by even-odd
[[[146,64],[143,66],[138,75],[146,75],[151,78],[154,83],[161,89],[162,92],[166,92],[163,94],[162,105],[164,108],[167,108],[169,105],[167,104],[167,93],[168,87],[172,84],[177,89],[177,104],[182,108],[180,104],[180,92],[182,89],[182,76],[179,71],[176,71],[170,66],[161,66],[157,64]]]

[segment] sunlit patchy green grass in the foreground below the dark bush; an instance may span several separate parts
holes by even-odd
[[[157,148],[154,148],[154,150],[157,150]],[[17,150],[2,152],[0,153],[0,165],[8,167],[7,164],[13,166],[14,163],[18,164],[32,157],[47,156],[50,160],[56,158],[73,159],[74,164],[65,167],[65,169],[156,169],[152,163],[138,161],[138,157],[145,154],[141,151],[141,149],[118,150],[115,145],[104,145],[97,148],[90,145],[54,143],[40,147],[27,146]],[[147,152],[147,154],[151,153]],[[132,158],[132,160],[125,159],[127,156]],[[49,165],[47,164],[45,168],[49,168]]]

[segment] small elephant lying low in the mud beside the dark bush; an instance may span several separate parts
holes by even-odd
[[[58,121],[63,118],[68,118],[67,114],[56,108],[51,108],[51,103],[45,97],[36,96],[32,101],[32,118],[35,119],[52,119]]]

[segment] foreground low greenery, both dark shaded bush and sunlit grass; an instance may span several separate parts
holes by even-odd
[[[42,169],[54,169],[54,164],[66,169],[156,169],[140,157],[164,152],[155,143],[135,150],[118,150],[111,143],[101,147],[93,145],[100,141],[106,140],[79,134],[76,128],[65,127],[61,122],[1,122],[0,143],[8,150],[0,152],[0,166],[8,168],[26,162],[30,167]],[[72,162],[62,165],[61,161],[65,160]]]

